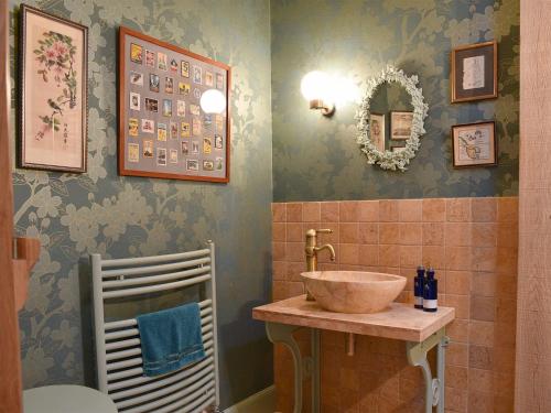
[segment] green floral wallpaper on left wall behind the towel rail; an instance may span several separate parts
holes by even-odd
[[[12,7],[12,86],[19,1]],[[252,306],[269,300],[272,200],[269,2],[257,0],[44,0],[89,28],[88,172],[14,170],[14,222],[41,259],[20,313],[25,388],[88,383],[91,326],[83,260],[217,246],[222,405],[272,382],[272,350]],[[117,175],[117,28],[126,25],[233,67],[228,185]],[[13,94],[15,96],[15,94]],[[13,100],[13,106],[15,100]],[[14,137],[13,137],[14,139]],[[88,343],[89,344],[89,343]],[[245,363],[244,360],[247,360]],[[251,372],[255,372],[253,374]]]

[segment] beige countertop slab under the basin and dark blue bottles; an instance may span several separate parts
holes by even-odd
[[[425,313],[413,308],[413,304],[392,303],[380,313],[343,314],[327,312],[315,301],[306,301],[306,295],[300,295],[252,308],[252,318],[420,343],[450,324],[455,309],[439,307],[436,313]]]

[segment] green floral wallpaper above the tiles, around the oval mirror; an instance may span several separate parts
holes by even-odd
[[[519,0],[276,0],[271,24],[274,200],[517,195]],[[493,39],[499,98],[451,105],[452,47]],[[350,77],[361,90],[387,64],[418,74],[429,104],[406,173],[367,164],[355,105],[324,118],[300,93],[310,70]],[[451,127],[493,119],[499,166],[454,170]]]

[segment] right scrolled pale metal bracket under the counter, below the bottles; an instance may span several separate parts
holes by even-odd
[[[408,362],[411,366],[420,367],[423,371],[425,384],[425,413],[432,413],[433,406],[436,406],[437,413],[444,413],[445,348],[449,343],[450,339],[445,335],[445,327],[442,327],[421,343],[406,343]],[[437,346],[436,378],[433,378],[426,354],[435,346]]]

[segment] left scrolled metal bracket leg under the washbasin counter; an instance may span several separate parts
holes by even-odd
[[[294,340],[293,332],[298,330],[300,327],[290,326],[287,324],[278,324],[278,323],[266,323],[266,333],[268,335],[268,339],[276,344],[282,343],[290,350],[293,357],[294,365],[294,409],[293,413],[302,412],[302,380],[303,380],[303,370],[302,370],[302,356],[301,349],[299,345]]]

